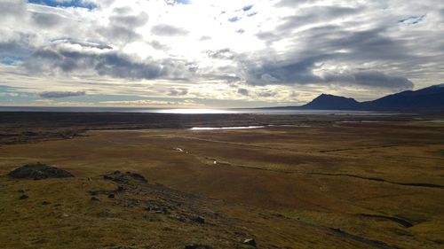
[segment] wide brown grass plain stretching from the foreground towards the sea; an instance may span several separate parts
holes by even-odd
[[[99,126],[27,142],[4,118],[20,143],[0,145],[0,248],[444,248],[444,122],[267,119],[297,126]],[[37,161],[75,178],[7,176]],[[148,183],[91,201],[117,188],[102,177],[115,170]]]

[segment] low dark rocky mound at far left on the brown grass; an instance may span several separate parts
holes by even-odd
[[[74,177],[71,173],[58,167],[52,167],[44,163],[27,164],[12,170],[9,176],[20,179],[41,180],[46,178]]]

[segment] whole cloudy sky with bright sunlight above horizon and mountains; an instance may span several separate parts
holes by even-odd
[[[366,101],[443,62],[442,0],[0,0],[0,105]]]

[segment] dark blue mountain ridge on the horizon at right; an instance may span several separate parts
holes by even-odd
[[[321,94],[306,105],[275,108],[362,111],[444,111],[444,84],[418,90],[406,90],[366,102],[358,102],[351,97]]]

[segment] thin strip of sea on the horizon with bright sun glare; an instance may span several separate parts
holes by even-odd
[[[344,110],[295,110],[275,108],[250,109],[168,109],[168,108],[124,108],[124,107],[43,107],[43,106],[0,106],[0,112],[51,112],[51,113],[175,113],[175,114],[319,114],[319,115],[391,115],[393,113]]]

